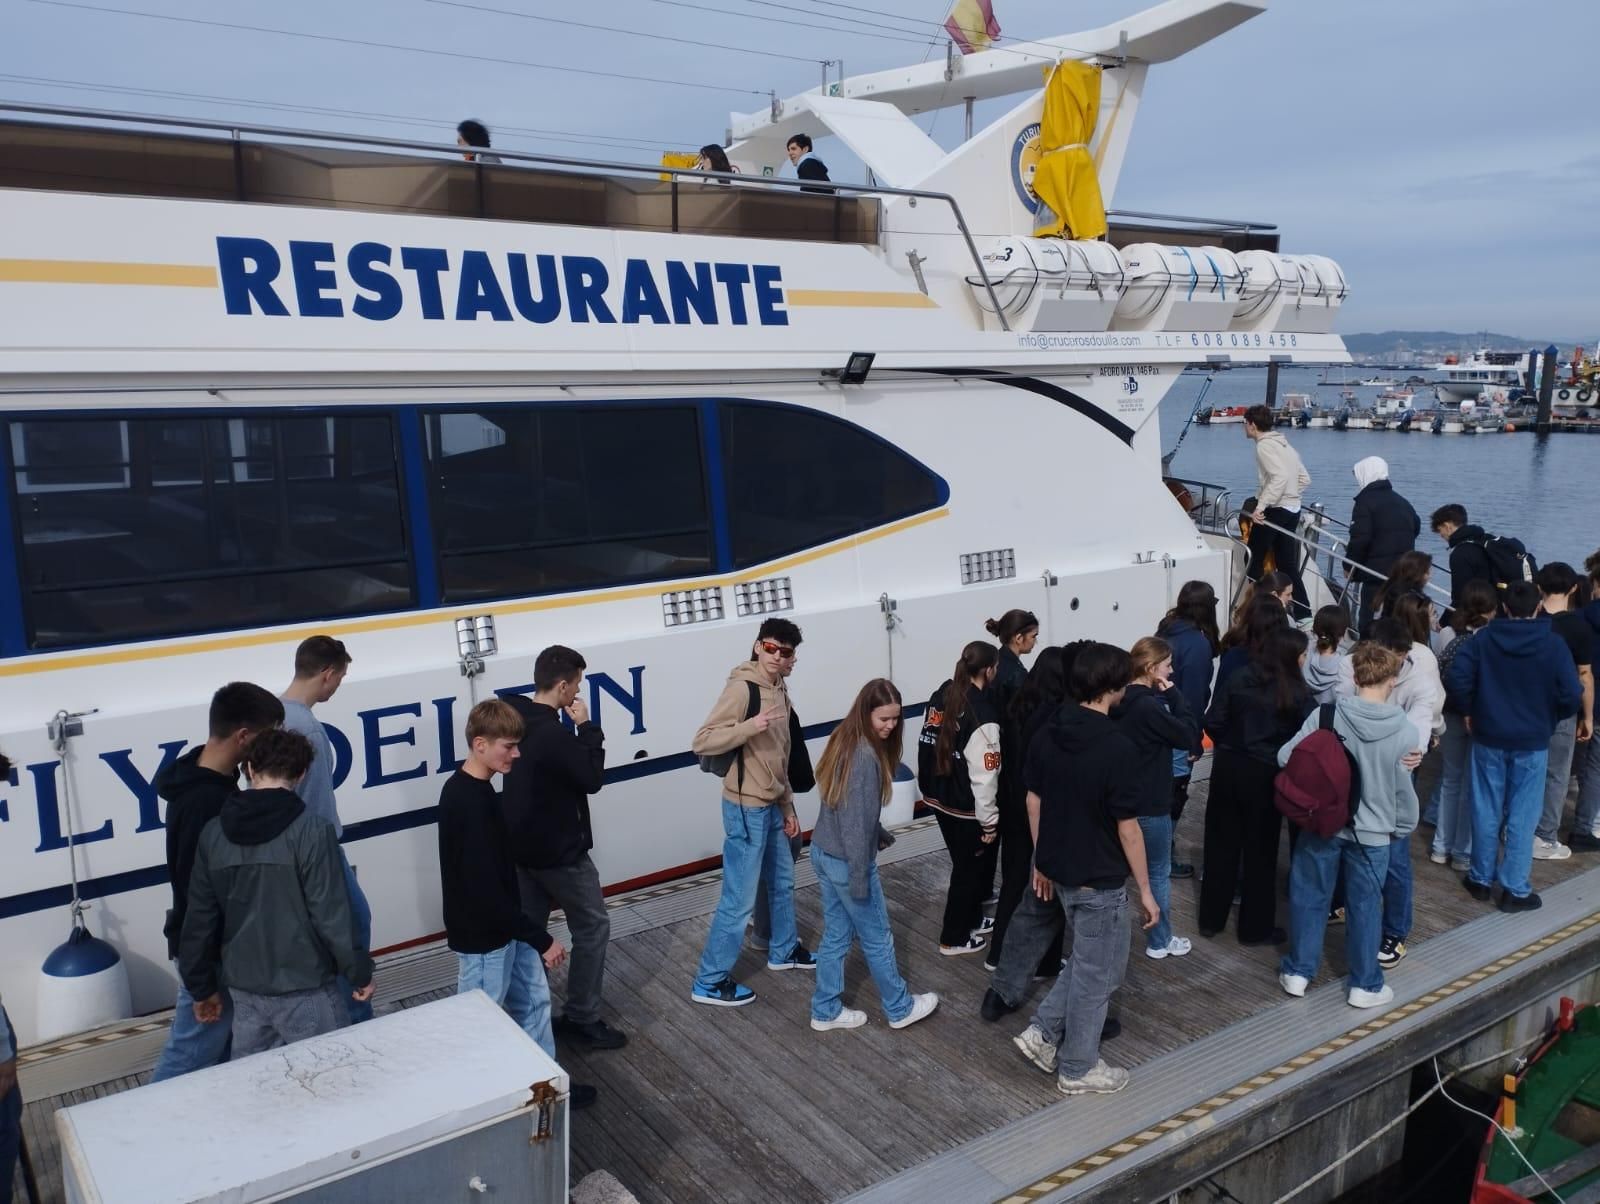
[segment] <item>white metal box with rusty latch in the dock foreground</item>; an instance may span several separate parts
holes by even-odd
[[[69,1204],[566,1199],[568,1078],[480,991],[56,1114]]]

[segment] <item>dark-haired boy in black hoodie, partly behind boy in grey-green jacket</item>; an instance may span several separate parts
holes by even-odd
[[[173,884],[173,906],[166,913],[166,956],[178,967],[178,941],[189,909],[189,877],[194,873],[200,833],[238,789],[238,761],[261,732],[283,722],[283,703],[253,682],[230,682],[211,695],[206,741],[184,752],[155,775],[155,793],[166,801],[166,876]],[[155,1063],[152,1082],[173,1079],[227,1060],[234,1010],[227,991],[221,993],[221,1013],[214,1023],[195,1018],[195,999],[178,980],[173,1028]]]

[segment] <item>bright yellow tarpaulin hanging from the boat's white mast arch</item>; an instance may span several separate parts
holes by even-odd
[[[1090,155],[1099,120],[1099,67],[1058,62],[1045,82],[1045,120],[1038,130],[1034,192],[1038,213],[1034,237],[1099,239],[1106,234],[1106,202]]]

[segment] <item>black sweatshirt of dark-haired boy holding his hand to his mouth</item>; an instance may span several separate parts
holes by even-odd
[[[574,865],[595,847],[589,796],[605,781],[605,733],[597,724],[568,732],[554,706],[520,695],[506,700],[522,716],[522,756],[501,788],[510,855],[530,869]]]

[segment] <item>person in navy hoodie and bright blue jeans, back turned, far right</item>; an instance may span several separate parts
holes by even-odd
[[[1539,615],[1539,589],[1510,583],[1504,618],[1456,653],[1445,688],[1472,733],[1472,868],[1466,889],[1488,903],[1501,885],[1501,911],[1541,905],[1528,881],[1534,828],[1544,809],[1544,772],[1557,724],[1576,714],[1584,692],[1573,655]],[[1501,850],[1506,833],[1506,853]]]

